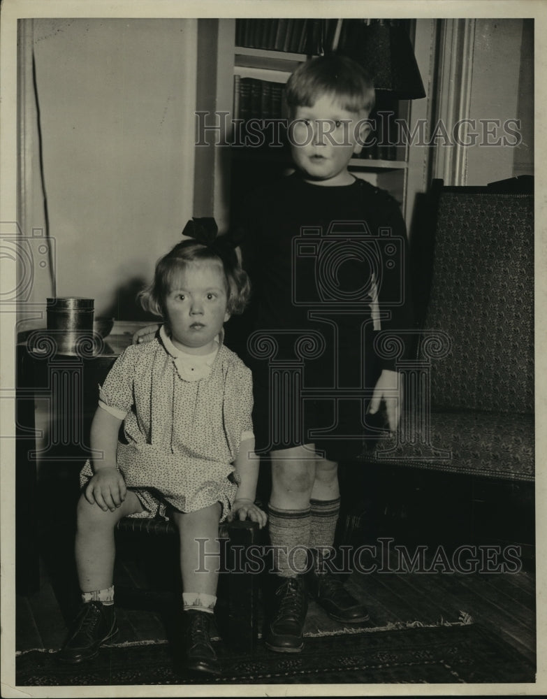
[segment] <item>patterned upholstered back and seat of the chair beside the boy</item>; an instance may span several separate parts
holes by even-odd
[[[442,189],[432,260],[423,337],[450,349],[431,361],[430,424],[410,408],[363,459],[533,480],[533,195]]]

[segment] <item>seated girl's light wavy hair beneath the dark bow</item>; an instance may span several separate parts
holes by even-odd
[[[218,240],[221,241],[222,237]],[[138,293],[140,305],[154,315],[164,316],[163,305],[177,274],[189,264],[203,261],[216,262],[222,267],[228,297],[226,310],[230,315],[242,313],[251,294],[249,277],[242,269],[233,247],[224,246],[217,241],[210,245],[197,240],[177,243],[173,250],[156,262],[154,281]]]

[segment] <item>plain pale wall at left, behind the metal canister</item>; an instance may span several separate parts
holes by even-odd
[[[197,22],[26,22],[23,233],[45,224],[44,189],[57,295],[90,296],[96,315],[138,319],[136,290],[193,214]],[[36,303],[52,295],[39,272]]]

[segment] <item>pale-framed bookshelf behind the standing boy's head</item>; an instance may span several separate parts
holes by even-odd
[[[282,22],[282,20],[275,21]],[[329,41],[337,41],[342,29],[342,20],[332,20],[332,22]],[[300,31],[303,31],[302,27],[303,25],[301,24]],[[416,50],[416,59],[418,59],[424,85],[428,85],[430,83],[430,74],[432,73],[430,60],[432,47],[435,45],[435,27],[430,20],[416,20],[412,30],[415,41],[421,42],[419,51]],[[249,31],[248,28],[247,31]],[[228,86],[230,86],[232,97],[228,110],[231,117],[235,118],[235,120],[245,121],[245,118],[249,117],[249,113],[245,113],[245,106],[244,114],[242,115],[241,113],[242,95],[240,87],[242,82],[247,86],[249,83],[254,85],[254,116],[260,117],[261,107],[258,106],[258,86],[269,84],[270,87],[266,88],[266,92],[272,88],[282,89],[286,80],[289,79],[289,75],[296,69],[298,64],[315,55],[314,52],[307,52],[307,50],[309,50],[310,44],[313,48],[317,40],[315,37],[306,42],[300,37],[300,49],[302,47],[306,49],[302,52],[302,50],[263,48],[268,45],[267,41],[273,41],[273,29],[270,30],[269,39],[268,32],[264,29],[262,30],[262,38],[255,38],[255,43],[258,45],[240,45],[238,40],[242,41],[242,36],[242,29],[238,24],[238,20],[219,20],[219,45],[223,45],[226,48],[226,52],[223,55],[221,73],[217,76],[217,80],[224,83],[225,95]],[[281,31],[279,24],[277,24],[277,41],[278,45],[280,45]],[[246,41],[245,43],[251,43],[251,41]],[[292,45],[296,45],[294,37]],[[291,42],[288,41],[285,46],[289,48]],[[416,48],[418,49],[418,47]],[[430,84],[428,87],[430,87]],[[426,92],[429,94],[427,88]],[[420,108],[416,110],[416,117],[428,115],[430,107],[429,97],[417,101],[393,101],[393,99],[390,101],[383,97],[385,93],[378,93],[377,95],[377,103],[380,110],[394,110],[395,116],[406,120],[410,127],[412,126],[416,103],[422,103]],[[284,116],[285,114],[282,111],[266,114],[267,118],[273,119]],[[235,124],[237,127],[238,122],[236,121]],[[234,140],[235,145],[229,148],[231,201],[238,201],[238,199],[241,201],[245,196],[245,192],[248,191],[247,188],[254,185],[258,180],[274,179],[280,174],[286,174],[291,171],[289,154],[282,147],[246,148],[238,144],[238,138],[233,138],[232,144]],[[402,207],[407,226],[411,222],[416,192],[425,191],[428,184],[428,153],[425,149],[418,149],[418,152],[413,151],[414,149],[409,148],[408,145],[391,146],[388,157],[382,157],[382,152],[379,152],[379,150],[372,152],[370,149],[364,148],[361,157],[351,159],[349,164],[349,171],[354,176],[367,180],[372,185],[386,189],[395,197]]]

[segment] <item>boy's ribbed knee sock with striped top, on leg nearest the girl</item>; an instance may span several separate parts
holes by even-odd
[[[277,575],[296,577],[306,572],[310,522],[309,507],[281,510],[268,505],[268,528]]]

